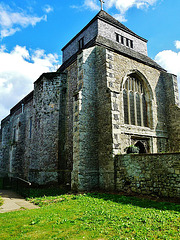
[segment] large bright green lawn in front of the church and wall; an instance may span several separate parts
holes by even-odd
[[[113,194],[31,199],[40,209],[0,214],[0,239],[180,239],[180,205]]]

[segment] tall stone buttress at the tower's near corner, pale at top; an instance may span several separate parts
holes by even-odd
[[[84,50],[77,59],[77,92],[73,102],[73,189],[99,186],[96,49]]]

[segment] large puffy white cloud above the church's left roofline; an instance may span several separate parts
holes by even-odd
[[[33,90],[33,82],[43,73],[55,71],[57,55],[44,50],[27,50],[16,46],[8,52],[0,47],[0,120],[25,95]]]

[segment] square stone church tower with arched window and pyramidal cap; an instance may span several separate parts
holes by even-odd
[[[146,39],[103,10],[62,51],[72,187],[113,189],[114,156],[131,146],[140,153],[172,147],[176,76],[148,57]]]

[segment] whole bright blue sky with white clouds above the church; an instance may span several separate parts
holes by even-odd
[[[180,0],[104,1],[104,10],[146,38],[149,57],[180,83]],[[57,69],[61,48],[99,10],[99,0],[0,0],[0,120],[43,72]]]

